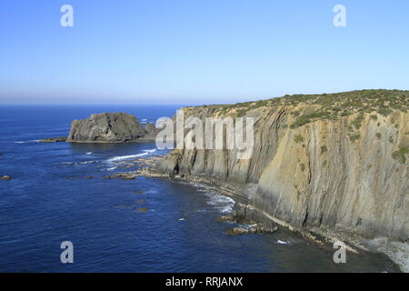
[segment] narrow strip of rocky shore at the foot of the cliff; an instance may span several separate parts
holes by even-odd
[[[384,264],[394,264],[402,272],[408,273],[409,247],[405,243],[389,242],[387,238],[376,237],[368,239],[352,231],[335,226],[334,228],[320,226],[310,228],[299,228],[277,219],[254,207],[251,203],[251,192],[254,190],[253,184],[238,184],[234,182],[222,182],[218,179],[208,176],[192,175],[168,175],[161,173],[157,168],[157,163],[165,156],[154,156],[148,158],[139,158],[134,161],[138,169],[131,172],[116,174],[114,178],[135,178],[136,176],[159,177],[171,179],[175,182],[198,183],[209,189],[215,189],[219,194],[229,196],[235,201],[234,214],[232,217],[221,216],[219,221],[232,221],[234,219],[251,221],[259,226],[278,226],[279,229],[290,231],[312,242],[319,248],[332,250],[334,252],[334,243],[336,241],[344,242],[347,252],[362,256],[377,256]],[[389,261],[389,262],[388,262]]]

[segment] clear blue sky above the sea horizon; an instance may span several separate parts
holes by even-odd
[[[74,26],[60,25],[72,5]],[[335,27],[335,5],[346,27]],[[0,104],[224,104],[409,89],[407,0],[0,2]]]

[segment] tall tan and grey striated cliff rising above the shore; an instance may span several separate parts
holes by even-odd
[[[409,93],[297,95],[186,115],[257,116],[254,153],[174,150],[167,173],[255,183],[255,207],[298,228],[338,226],[365,237],[409,236]]]

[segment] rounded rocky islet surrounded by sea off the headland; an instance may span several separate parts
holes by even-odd
[[[144,126],[134,115],[103,113],[87,119],[74,120],[67,142],[125,143],[155,136],[155,126]],[[155,137],[154,137],[155,138]]]

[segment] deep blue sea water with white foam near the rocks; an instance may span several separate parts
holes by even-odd
[[[286,231],[227,236],[231,198],[162,178],[104,179],[153,143],[41,144],[71,121],[127,112],[155,121],[175,105],[0,106],[0,272],[393,272],[384,257],[333,252]],[[94,176],[87,179],[87,176]],[[143,191],[136,194],[135,191]],[[143,200],[143,201],[141,201]],[[140,204],[143,202],[143,204]],[[148,211],[137,211],[146,207]],[[63,241],[74,264],[62,264]]]

